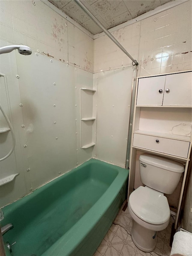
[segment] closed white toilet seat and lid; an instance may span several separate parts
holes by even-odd
[[[169,222],[170,208],[167,197],[147,186],[140,186],[131,193],[129,207],[134,215],[146,223],[161,225]]]

